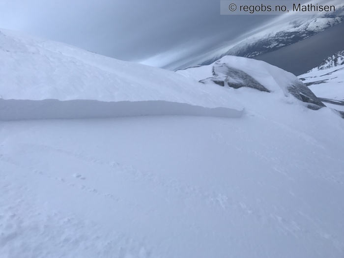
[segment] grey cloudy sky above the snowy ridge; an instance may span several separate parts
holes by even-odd
[[[168,69],[226,49],[275,18],[220,15],[220,0],[0,0],[0,28]]]

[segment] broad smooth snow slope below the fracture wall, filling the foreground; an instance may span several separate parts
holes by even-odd
[[[340,258],[343,123],[294,112],[2,123],[0,256]]]

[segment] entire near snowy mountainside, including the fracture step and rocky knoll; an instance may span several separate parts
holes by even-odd
[[[291,73],[0,31],[0,257],[343,256],[344,120]]]

